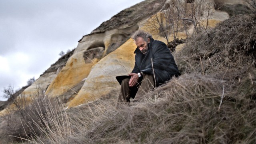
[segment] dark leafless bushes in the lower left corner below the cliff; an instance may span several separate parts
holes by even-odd
[[[55,102],[44,96],[40,88],[30,96],[15,91],[11,86],[4,89],[4,93],[10,101],[6,114],[0,118],[0,129],[4,130],[0,131],[0,139],[4,143],[42,136],[40,128],[47,121],[46,106],[51,105],[52,109],[59,110]]]

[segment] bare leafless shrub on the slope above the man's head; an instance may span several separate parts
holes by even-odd
[[[144,26],[148,31],[164,37],[169,44],[169,37],[172,36],[175,40],[178,38],[178,32],[185,31],[188,37],[194,35],[194,32],[207,30],[215,4],[214,0],[170,0],[164,4],[160,12],[145,22]],[[195,29],[192,34],[188,32],[191,25]]]

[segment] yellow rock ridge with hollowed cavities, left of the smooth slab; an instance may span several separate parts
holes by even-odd
[[[134,32],[137,28],[138,26],[135,25],[121,30],[114,29],[104,33],[84,36],[79,41],[74,54],[68,59],[66,66],[62,68],[58,76],[48,87],[46,94],[49,97],[64,95],[64,93],[72,89],[73,86],[87,78],[91,73],[92,66],[104,57],[108,51],[108,47],[116,41],[119,41],[119,39],[113,40],[113,37],[122,39],[122,36]],[[85,52],[88,53],[85,54]],[[85,57],[87,58],[86,60]]]

